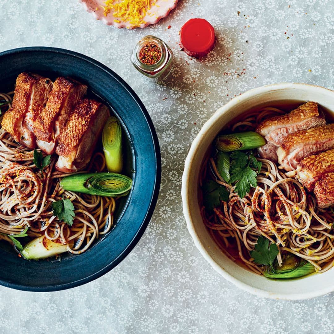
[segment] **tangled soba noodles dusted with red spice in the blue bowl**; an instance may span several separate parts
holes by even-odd
[[[12,101],[12,95],[13,92],[0,93],[0,100]],[[32,150],[17,144],[0,129],[0,233],[3,233],[0,239],[12,242],[7,235],[18,234],[29,227],[27,234],[31,238],[45,235],[50,240],[67,244],[69,253],[86,251],[94,240],[111,230],[115,199],[65,191],[60,187],[59,178],[75,173],[58,172],[54,168],[56,157],[51,157],[42,177],[32,159]],[[84,172],[101,172],[105,167],[104,154],[97,152]],[[52,214],[51,203],[62,196],[74,205],[72,226]]]

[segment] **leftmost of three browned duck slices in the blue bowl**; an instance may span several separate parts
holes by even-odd
[[[12,107],[5,113],[1,126],[16,142],[28,147],[36,147],[36,137],[32,124],[40,115],[52,89],[52,81],[33,73],[20,73]]]

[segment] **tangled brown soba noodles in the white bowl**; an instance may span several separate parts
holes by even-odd
[[[276,108],[264,108],[249,114],[231,130],[254,131],[265,118],[284,113]],[[287,177],[275,163],[258,160],[262,162],[258,186],[251,188],[242,199],[234,192],[235,186],[221,178],[214,159],[209,156],[204,160],[200,185],[203,180],[213,179],[229,190],[228,202],[215,208],[213,214],[202,210],[212,238],[233,261],[236,258],[227,249],[236,247],[239,260],[257,274],[263,273],[262,268],[252,261],[249,252],[260,235],[277,244],[279,266],[282,255],[292,253],[310,262],[317,272],[327,271],[334,264],[334,212],[330,208],[318,208],[313,194],[307,194],[302,184]]]

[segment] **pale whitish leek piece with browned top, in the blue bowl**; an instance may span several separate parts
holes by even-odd
[[[68,244],[72,247],[73,243],[74,242],[72,240]],[[50,258],[64,252],[67,252],[67,244],[64,245],[61,242],[49,240],[45,235],[43,235],[28,242],[23,247],[21,254],[27,260],[39,260]]]

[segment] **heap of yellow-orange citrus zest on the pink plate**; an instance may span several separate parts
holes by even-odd
[[[157,0],[106,0],[104,15],[113,11],[113,16],[124,22],[129,22],[133,27],[139,27],[146,23],[144,17]],[[114,20],[116,22],[116,20]]]

